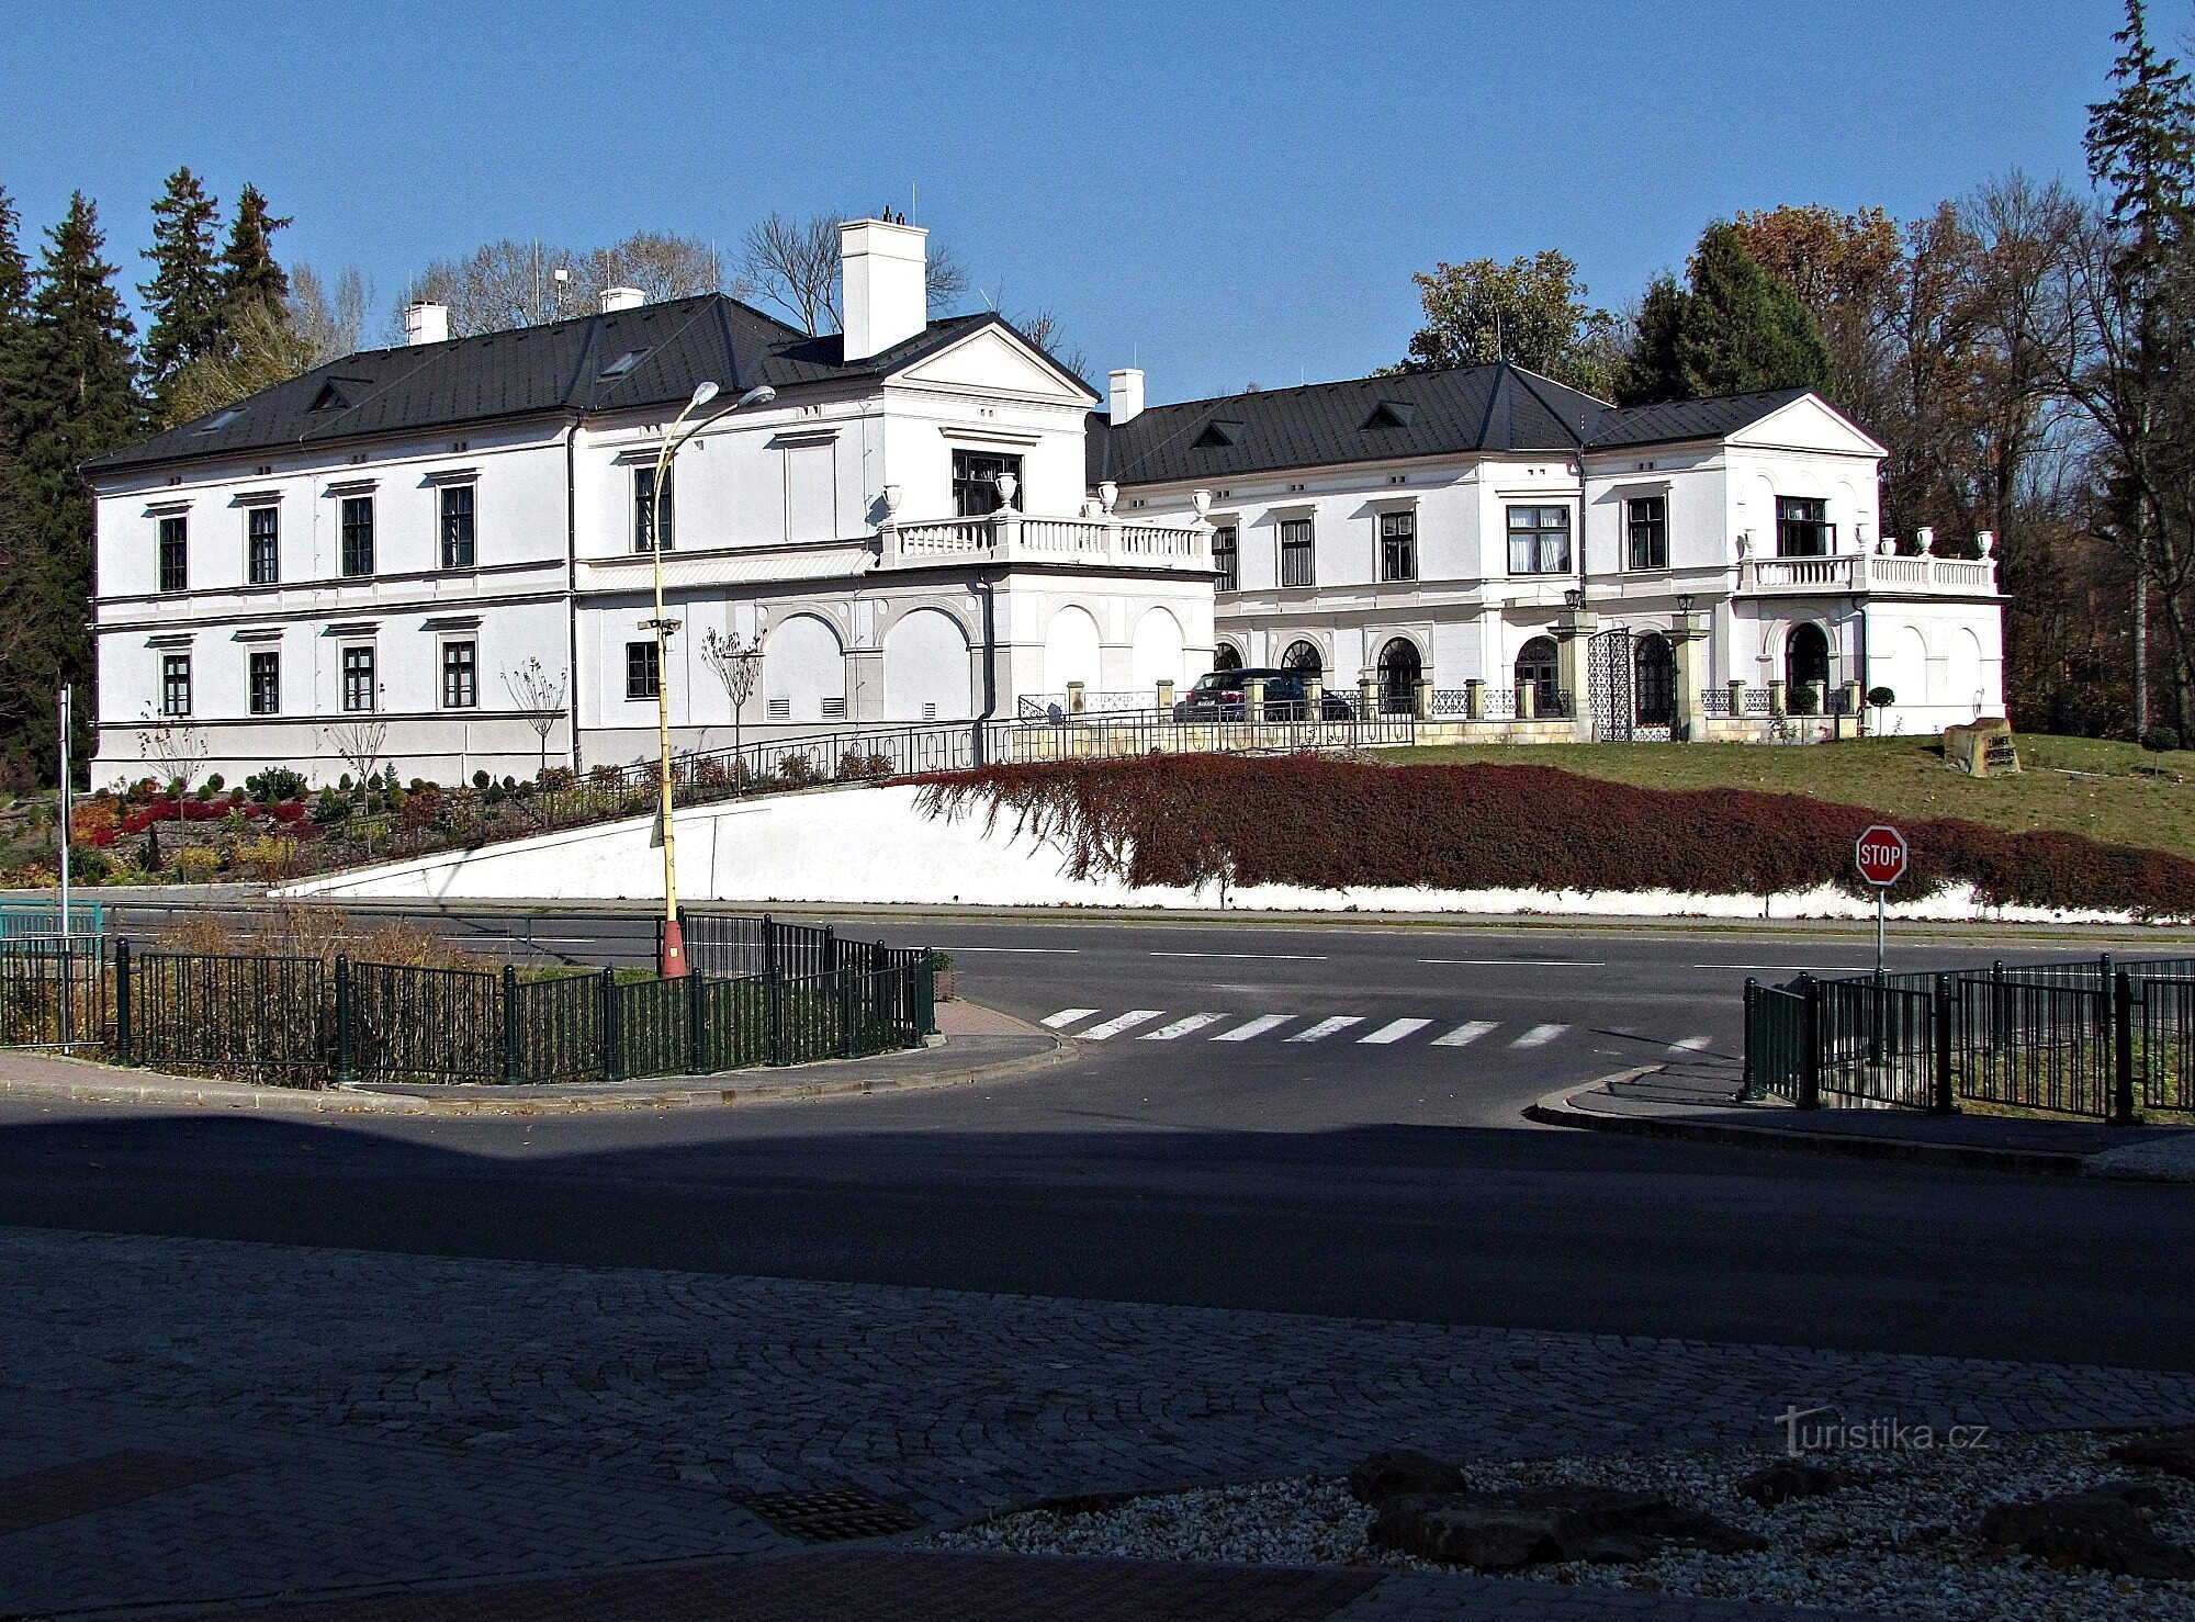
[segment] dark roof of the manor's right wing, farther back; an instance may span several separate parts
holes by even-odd
[[[1091,413],[1084,468],[1093,485],[1157,485],[1460,452],[1574,454],[1721,439],[1804,393],[1624,408],[1506,362],[1405,371],[1150,406],[1117,428]]]

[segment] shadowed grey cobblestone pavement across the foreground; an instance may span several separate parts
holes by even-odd
[[[509,1615],[599,1615],[571,1587],[588,1574],[727,1558],[744,1565],[680,1580],[740,1604],[663,1613],[790,1615],[766,1598],[786,1578],[753,1561],[806,1545],[733,1495],[867,1488],[939,1525],[1051,1493],[1339,1471],[1398,1440],[1460,1457],[1767,1453],[1793,1405],[2000,1429],[2195,1418],[2195,1376],[2107,1367],[44,1229],[0,1229],[0,1615],[481,1580],[551,1585]],[[20,1484],[31,1473],[42,1488]],[[7,1514],[40,1497],[75,1512]],[[821,1582],[854,1554],[792,1565]],[[970,1596],[1003,1580],[997,1561],[893,1558],[876,1569]],[[1034,1563],[1029,1580],[1098,1580],[1080,1565]],[[1170,1613],[1185,1580],[1148,1578],[1137,1613]],[[1284,1591],[1326,1611],[1286,1611]],[[1416,1618],[1495,1598],[1504,1615],[1587,1613],[1558,1589],[1462,1578],[1352,1593],[1275,1587],[1240,1613]],[[1752,1613],[1637,1598],[1651,1615]],[[336,1615],[426,1615],[389,1604]],[[1076,1611],[1062,1598],[1056,1613]]]

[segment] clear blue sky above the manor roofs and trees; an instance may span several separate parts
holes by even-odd
[[[1620,307],[1714,215],[2083,182],[2116,0],[77,4],[7,9],[26,246],[88,191],[127,281],[187,162],[393,307],[439,255],[738,248],[885,202],[1155,402],[1403,356],[1411,272],[1569,252]],[[2153,29],[2184,50],[2186,0]],[[913,198],[913,202],[911,202]],[[979,303],[979,301],[970,301]],[[380,314],[380,312],[378,312]]]

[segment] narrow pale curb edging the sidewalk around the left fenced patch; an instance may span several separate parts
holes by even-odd
[[[738,1104],[779,1104],[821,1097],[863,1097],[871,1093],[913,1093],[946,1086],[981,1086],[990,1082],[1012,1082],[1023,1075],[1038,1075],[1073,1062],[1073,1049],[1054,1038],[1043,1054],[997,1060],[992,1065],[970,1065],[953,1071],[931,1071],[926,1075],[845,1075],[814,1078],[784,1086],[687,1086],[630,1093],[553,1095],[525,1097],[430,1097],[417,1093],[375,1093],[364,1089],[305,1091],[305,1089],[244,1089],[239,1084],[215,1086],[154,1086],[147,1082],[83,1080],[83,1082],[37,1082],[0,1078],[0,1097],[46,1100],[70,1104],[167,1104],[171,1108],[239,1108],[266,1115],[402,1115],[402,1117],[450,1117],[450,1115],[615,1115],[632,1111],[672,1108],[724,1108]],[[858,1060],[845,1060],[858,1062]],[[105,1069],[90,1067],[88,1069]]]

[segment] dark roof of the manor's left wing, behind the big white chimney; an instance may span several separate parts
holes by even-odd
[[[847,362],[838,334],[810,338],[727,294],[672,299],[439,345],[367,349],[99,457],[86,470],[457,428],[496,417],[676,406],[702,378],[713,378],[727,395],[757,384],[784,393],[898,371],[990,323],[1005,325],[997,314],[933,320],[880,356]],[[639,353],[628,371],[604,375],[628,353]]]

